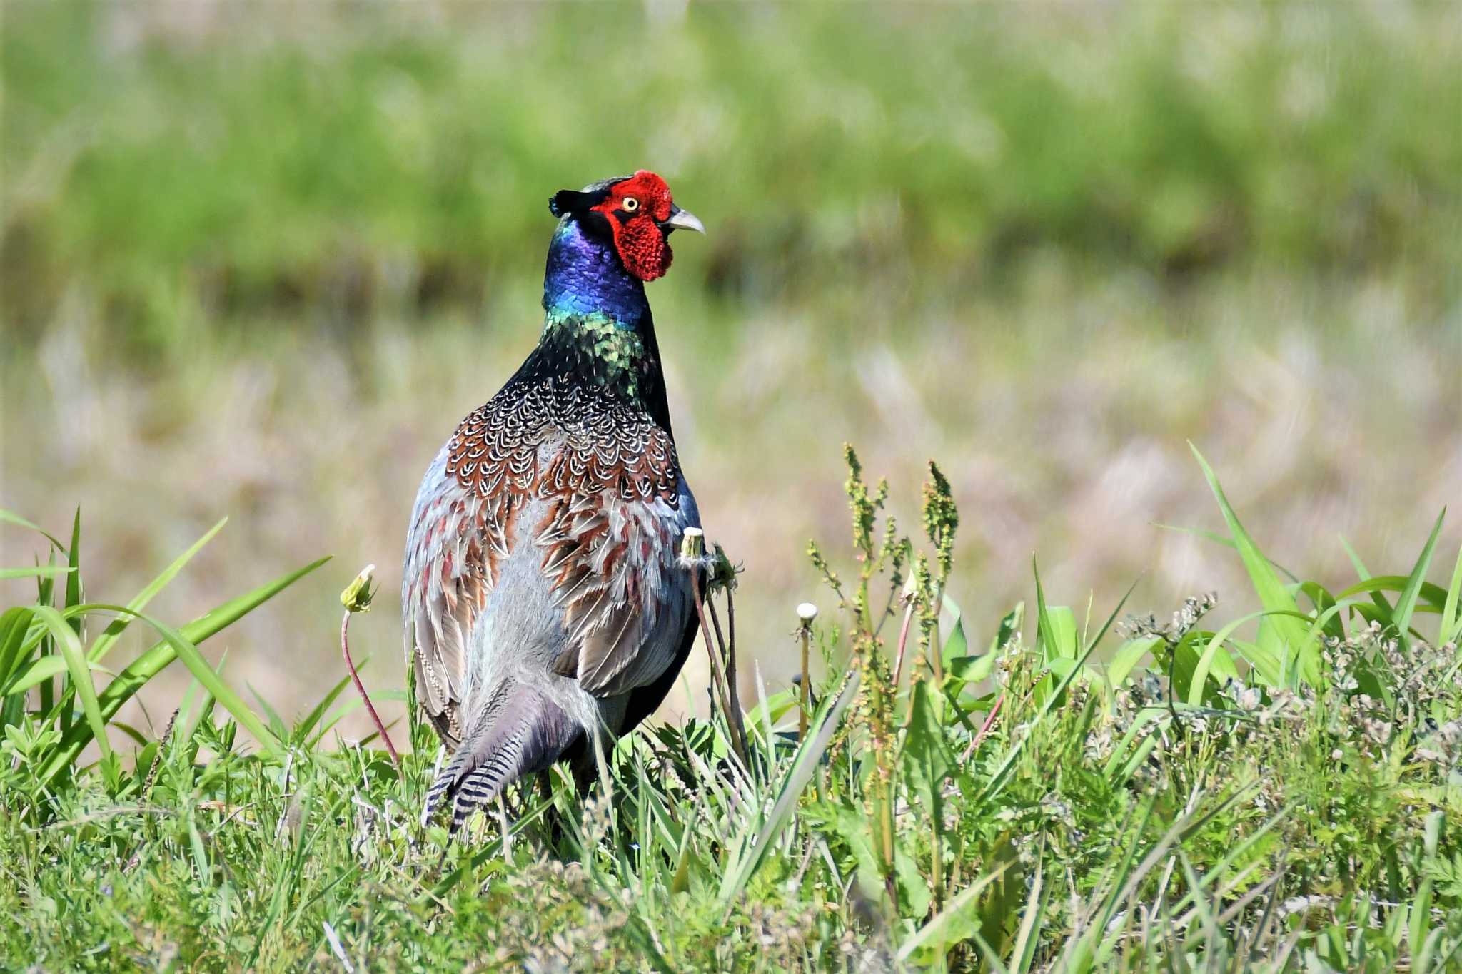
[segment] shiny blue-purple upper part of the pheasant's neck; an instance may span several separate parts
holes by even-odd
[[[575,218],[560,221],[544,272],[544,331],[564,318],[608,318],[616,327],[649,326],[645,282],[624,270],[614,244],[589,237]]]

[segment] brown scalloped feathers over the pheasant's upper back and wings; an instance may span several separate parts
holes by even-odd
[[[639,575],[655,571],[655,553],[674,539],[651,517],[611,518],[608,508],[656,499],[678,507],[670,434],[602,387],[518,378],[458,425],[446,479],[415,526],[424,536],[409,594],[418,606],[417,683],[443,737],[461,742],[468,634],[497,584],[516,517],[535,498],[553,501],[534,540],[572,634],[554,669],[577,675],[591,692],[633,679],[629,650],[656,615],[654,588]]]

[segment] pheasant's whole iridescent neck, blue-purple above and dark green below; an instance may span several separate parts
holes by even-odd
[[[645,282],[624,270],[608,239],[586,234],[572,216],[548,245],[544,330],[525,365],[604,386],[670,431]]]

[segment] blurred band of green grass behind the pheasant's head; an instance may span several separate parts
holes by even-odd
[[[532,295],[554,188],[640,165],[727,301],[958,299],[1050,253],[1458,296],[1455,4],[440,18],[12,6],[7,327],[86,301],[155,352],[212,315],[475,312]]]

